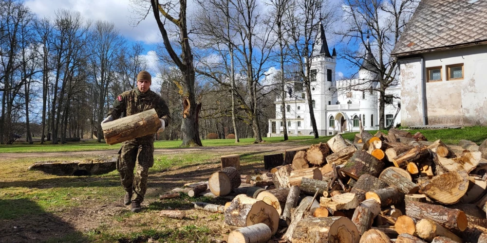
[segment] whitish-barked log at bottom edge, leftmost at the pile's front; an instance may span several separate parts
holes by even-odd
[[[256,224],[236,229],[228,234],[227,243],[265,243],[272,237],[272,231],[266,224]]]

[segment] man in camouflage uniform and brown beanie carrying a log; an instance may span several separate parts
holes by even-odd
[[[164,131],[171,120],[169,108],[161,96],[150,90],[150,84],[149,72],[139,72],[137,88],[117,96],[113,107],[108,112],[108,117],[102,121],[102,124],[120,118],[122,113],[125,113],[125,116],[131,116],[154,108],[161,121],[161,128],[157,133]],[[144,200],[146,193],[149,168],[154,164],[154,140],[153,134],[131,139],[123,142],[122,148],[118,152],[116,167],[120,173],[122,186],[126,191],[124,203],[125,205],[132,204],[132,212],[140,212],[141,210],[140,203]],[[136,174],[134,177],[135,165]],[[135,198],[132,200],[133,192],[135,192]]]

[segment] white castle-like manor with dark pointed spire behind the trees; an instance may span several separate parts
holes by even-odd
[[[358,78],[351,80],[335,80],[335,67],[337,54],[335,48],[330,55],[323,26],[320,38],[315,42],[311,65],[311,96],[313,110],[319,136],[335,135],[359,131],[359,119],[362,120],[364,130],[378,129],[378,91],[369,91],[364,86],[378,85],[377,82],[368,82],[375,79],[373,71],[373,55],[367,53]],[[369,48],[370,50],[370,48]],[[351,88],[354,87],[352,90]],[[277,97],[276,118],[269,119],[267,137],[283,136],[281,109],[286,109],[288,136],[312,135],[313,127],[309,114],[306,92],[301,82],[289,82],[284,97],[285,107],[282,107],[281,97]],[[367,91],[361,91],[367,90]],[[400,92],[398,83],[386,90],[385,125],[401,121],[400,118]],[[395,118],[395,119],[394,119]]]

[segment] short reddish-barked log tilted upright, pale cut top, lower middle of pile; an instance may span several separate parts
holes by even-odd
[[[375,200],[365,200],[355,209],[352,222],[357,226],[358,233],[362,235],[372,226],[375,216],[380,213],[380,205]]]

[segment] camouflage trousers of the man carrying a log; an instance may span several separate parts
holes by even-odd
[[[135,198],[133,202],[141,203],[147,190],[149,168],[154,165],[154,143],[139,144],[132,141],[122,143],[118,152],[117,171],[125,191]],[[136,167],[135,176],[133,169]]]

